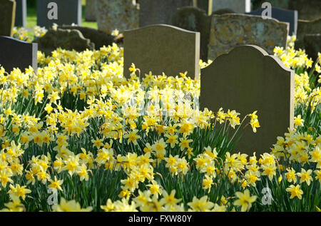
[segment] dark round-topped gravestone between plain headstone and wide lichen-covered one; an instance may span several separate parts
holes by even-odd
[[[208,60],[208,40],[210,38],[210,16],[202,9],[193,6],[185,6],[173,16],[173,26],[188,31],[200,32],[200,58]]]

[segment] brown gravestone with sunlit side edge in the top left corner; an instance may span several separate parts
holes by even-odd
[[[13,36],[16,1],[0,0],[0,36]]]

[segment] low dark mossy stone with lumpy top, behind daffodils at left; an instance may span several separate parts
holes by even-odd
[[[87,38],[83,37],[78,30],[49,30],[44,36],[38,38],[36,43],[39,44],[39,51],[42,51],[46,56],[50,55],[56,48],[66,50],[85,51],[94,50],[95,44]]]

